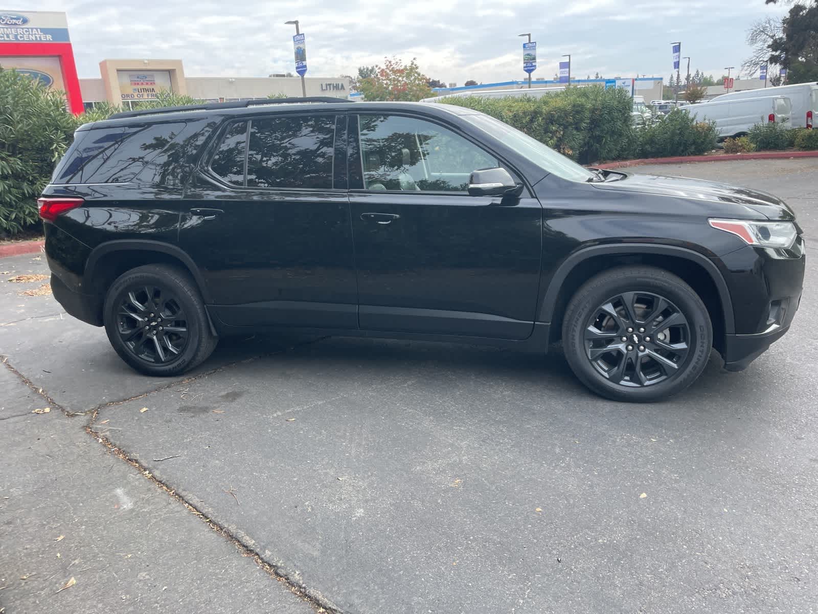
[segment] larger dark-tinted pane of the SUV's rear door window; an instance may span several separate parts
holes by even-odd
[[[330,189],[335,115],[283,115],[250,122],[247,185]]]

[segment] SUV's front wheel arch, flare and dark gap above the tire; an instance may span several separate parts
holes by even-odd
[[[684,247],[640,243],[585,247],[560,264],[537,311],[537,321],[551,325],[551,341],[559,339],[565,306],[582,283],[596,273],[623,264],[656,266],[676,274],[690,285],[708,308],[713,345],[722,351],[725,335],[735,333],[735,318],[730,291],[716,264],[699,252]]]

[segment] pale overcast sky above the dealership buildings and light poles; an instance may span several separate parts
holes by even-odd
[[[286,20],[306,34],[308,76],[353,74],[384,56],[417,57],[430,78],[462,85],[523,79],[523,42],[537,41],[536,77],[553,79],[560,55],[572,76],[667,79],[672,41],[690,71],[720,76],[748,56],[748,26],[786,7],[764,0],[47,0],[9,10],[66,11],[79,76],[106,58],[173,58],[189,76],[266,76],[294,70]],[[682,70],[685,70],[684,64]],[[734,71],[735,74],[735,71]]]

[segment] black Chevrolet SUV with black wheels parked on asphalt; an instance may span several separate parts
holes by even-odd
[[[151,375],[298,328],[545,352],[614,400],[745,368],[798,309],[782,201],[586,169],[476,111],[325,98],[81,127],[43,198],[52,289]]]

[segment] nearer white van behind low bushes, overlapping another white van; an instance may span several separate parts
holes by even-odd
[[[681,109],[699,121],[715,121],[720,139],[747,134],[755,124],[775,122],[790,128],[793,105],[786,96],[713,100]]]

